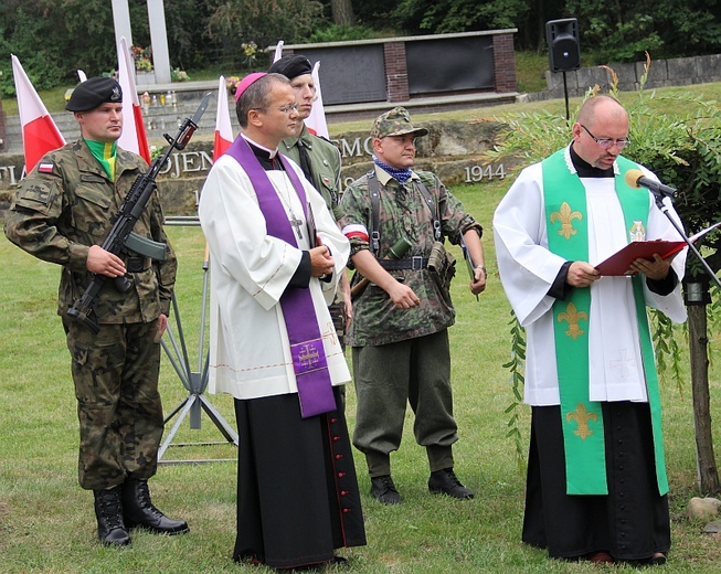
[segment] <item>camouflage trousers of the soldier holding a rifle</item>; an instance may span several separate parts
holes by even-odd
[[[81,487],[100,490],[156,474],[163,417],[158,321],[100,325],[64,319],[77,398]]]

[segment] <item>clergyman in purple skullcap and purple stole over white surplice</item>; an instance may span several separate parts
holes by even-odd
[[[235,561],[346,562],[365,543],[338,385],[350,380],[328,312],[349,244],[322,196],[277,153],[298,121],[287,78],[246,76],[242,134],[199,205],[211,261],[210,390],[235,397]],[[326,299],[326,296],[328,300]]]

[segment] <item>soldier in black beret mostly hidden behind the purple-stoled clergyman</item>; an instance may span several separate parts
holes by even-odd
[[[316,134],[311,134],[305,119],[310,116],[312,104],[316,100],[316,85],[312,79],[312,66],[306,56],[299,54],[286,55],[278,59],[268,68],[268,73],[277,73],[290,81],[290,86],[298,104],[298,127],[294,137],[283,140],[279,151],[293,159],[310,181],[324,200],[326,205],[338,221],[342,215],[340,211],[340,151],[330,141]],[[340,278],[336,299],[329,307],[338,340],[344,349],[346,328],[352,318],[352,302],[350,300],[350,284],[347,276]],[[341,386],[341,397],[344,400],[346,387]]]

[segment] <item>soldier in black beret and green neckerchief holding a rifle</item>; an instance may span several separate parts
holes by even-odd
[[[123,130],[123,93],[112,78],[79,84],[66,108],[82,138],[45,155],[20,183],[6,219],[8,238],[43,261],[62,265],[57,313],[62,317],[81,428],[78,478],[93,490],[98,538],[126,545],[130,527],[177,534],[188,531],[150,501],[162,435],[158,394],[160,337],[176,280],[176,256],[162,230],[157,194],[135,225],[141,236],[166,244],[165,262],[100,247],[119,205],[148,164],[116,145]],[[120,293],[102,287],[94,334],[67,310],[94,274],[126,276]]]

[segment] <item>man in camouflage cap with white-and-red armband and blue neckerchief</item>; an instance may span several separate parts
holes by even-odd
[[[415,413],[415,439],[428,456],[431,492],[474,496],[453,470],[452,445],[458,436],[447,328],[455,311],[447,286],[427,265],[434,243],[445,236],[459,244],[463,237],[476,264],[470,290],[483,291],[483,227],[435,174],[411,170],[414,140],[426,134],[413,127],[402,107],[381,115],[371,130],[374,168],[346,189],[340,203],[342,230],[351,242],[349,266],[371,280],[353,301],[349,330],[358,395],[353,444],[365,455],[371,495],[384,504],[403,500],[391,478],[390,453],[401,444],[406,401]],[[374,188],[380,195],[375,230]],[[374,232],[380,237],[373,253]],[[410,251],[401,259],[383,261],[402,238]]]

